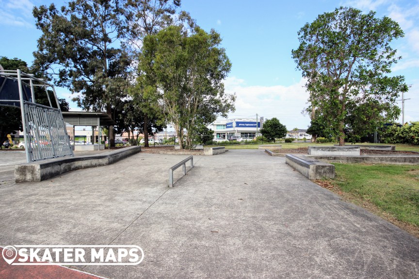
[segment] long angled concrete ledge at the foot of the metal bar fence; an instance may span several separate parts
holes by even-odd
[[[131,146],[107,154],[55,158],[15,166],[15,182],[38,182],[68,171],[113,164],[141,151],[141,146]]]

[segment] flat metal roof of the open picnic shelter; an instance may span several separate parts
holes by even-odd
[[[62,113],[64,122],[73,126],[97,126],[97,120],[104,126],[116,124],[105,112],[63,111]]]

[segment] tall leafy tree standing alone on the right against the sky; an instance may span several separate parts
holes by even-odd
[[[387,76],[401,59],[390,46],[403,36],[397,22],[340,7],[307,23],[298,36],[300,46],[292,57],[308,80],[307,110],[339,137],[339,145],[345,144],[345,131],[366,133],[398,116],[404,77]],[[367,118],[366,125],[359,125]]]

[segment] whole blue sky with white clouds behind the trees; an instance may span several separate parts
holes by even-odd
[[[54,2],[50,0],[0,0],[0,56],[20,58],[32,64],[32,52],[40,31],[35,28],[32,7]],[[301,72],[295,70],[291,49],[298,47],[297,32],[324,12],[338,6],[352,6],[365,13],[396,20],[405,37],[393,43],[403,59],[393,67],[394,75],[405,76],[412,84],[405,94],[405,121],[419,121],[419,1],[407,0],[182,0],[204,30],[218,31],[222,46],[232,62],[225,81],[226,91],[236,93],[236,111],[230,117],[276,117],[288,129],[304,129],[309,117],[301,111],[308,94]],[[65,89],[57,89],[60,97],[70,99]],[[400,102],[399,102],[400,103]],[[71,104],[71,110],[80,110]],[[400,118],[401,121],[401,118]]]

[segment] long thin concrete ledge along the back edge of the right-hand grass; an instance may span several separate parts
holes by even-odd
[[[339,163],[376,163],[376,164],[419,164],[419,155],[360,155],[333,156],[308,155],[307,157]]]

